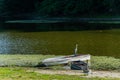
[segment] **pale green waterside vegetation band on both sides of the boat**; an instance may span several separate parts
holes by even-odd
[[[55,55],[0,55],[0,66],[34,67],[43,59],[50,57],[55,57]],[[53,67],[53,69],[58,68]],[[106,56],[92,56],[91,69],[120,71],[120,59]]]

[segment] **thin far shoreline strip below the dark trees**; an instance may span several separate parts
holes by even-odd
[[[107,24],[120,24],[120,18],[40,18],[33,20],[10,20],[5,23],[107,23]]]

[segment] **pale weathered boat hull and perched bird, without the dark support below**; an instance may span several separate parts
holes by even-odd
[[[84,61],[84,62],[90,64],[90,55],[89,54],[78,55],[77,54],[77,47],[78,47],[78,45],[76,44],[74,55],[48,58],[48,59],[43,60],[42,63],[45,64],[46,66],[58,65],[58,64],[67,64],[67,63],[70,63],[73,61]]]

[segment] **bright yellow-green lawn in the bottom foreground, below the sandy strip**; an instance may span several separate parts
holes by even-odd
[[[117,78],[85,78],[69,75],[47,75],[28,72],[28,69],[21,67],[1,67],[0,80],[118,80]]]

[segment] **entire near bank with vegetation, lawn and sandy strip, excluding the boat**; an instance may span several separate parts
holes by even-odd
[[[36,68],[43,59],[55,55],[0,55],[0,79],[2,80],[119,80],[120,59],[92,56],[92,73],[66,70],[62,66]],[[104,60],[104,61],[103,61]],[[63,76],[64,75],[64,76]],[[74,76],[74,77],[73,77]]]

